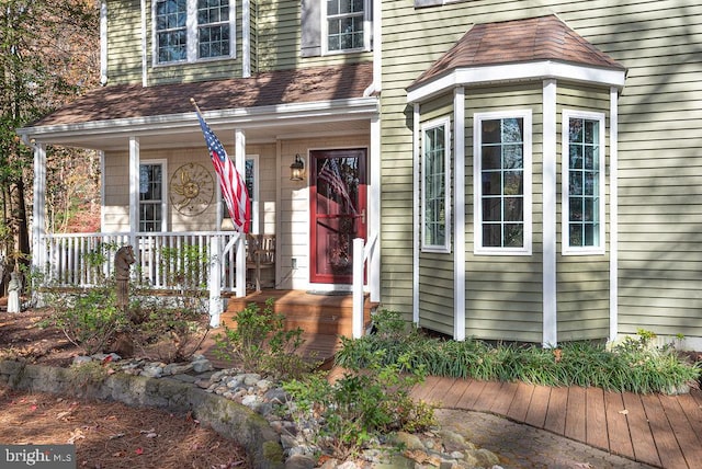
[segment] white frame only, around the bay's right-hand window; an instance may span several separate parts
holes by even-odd
[[[576,110],[563,110],[563,121],[561,123],[561,135],[562,135],[562,144],[561,144],[561,172],[562,172],[562,176],[561,176],[561,190],[562,190],[562,220],[561,220],[561,244],[562,244],[562,252],[563,255],[597,255],[597,254],[604,254],[604,245],[605,245],[605,240],[604,240],[604,236],[605,236],[605,221],[607,221],[607,217],[605,217],[605,205],[604,205],[604,186],[605,186],[605,142],[607,142],[607,138],[605,138],[605,126],[604,126],[604,122],[605,122],[605,116],[604,113],[597,113],[597,112],[589,112],[589,111],[576,111]],[[568,164],[568,156],[570,155],[570,149],[569,149],[569,122],[570,118],[585,118],[588,121],[598,121],[598,125],[599,125],[599,133],[600,133],[600,145],[599,145],[599,155],[598,155],[598,160],[599,160],[599,236],[598,236],[598,240],[599,240],[599,245],[585,245],[585,247],[571,247],[570,244],[570,237],[569,237],[569,220],[568,220],[568,214],[570,211],[570,198],[569,198],[569,184],[568,181],[569,179],[569,164]]]

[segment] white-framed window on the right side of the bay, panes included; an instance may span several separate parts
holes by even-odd
[[[563,252],[604,253],[604,114],[563,112]]]

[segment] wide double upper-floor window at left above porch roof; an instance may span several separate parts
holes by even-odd
[[[154,9],[156,64],[234,56],[230,0],[157,0]]]

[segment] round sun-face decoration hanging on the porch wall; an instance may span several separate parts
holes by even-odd
[[[170,182],[170,199],[176,209],[192,217],[207,209],[215,196],[212,173],[197,163],[178,168]]]

